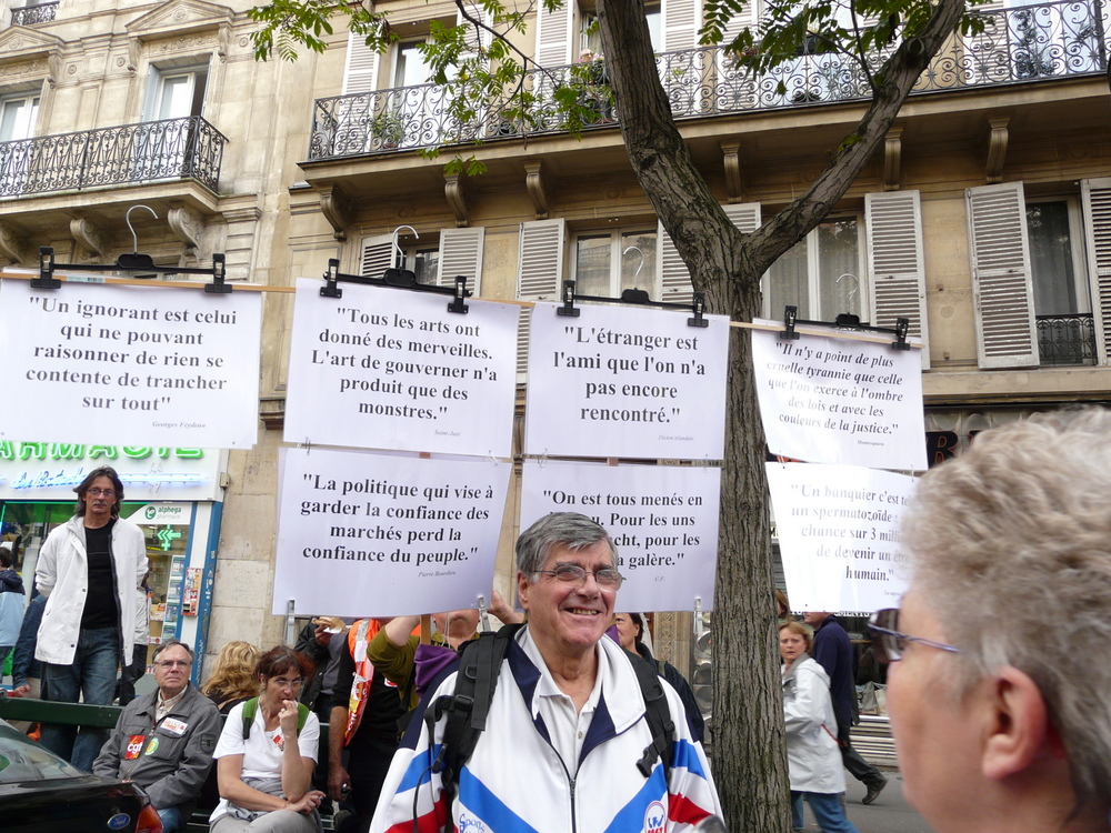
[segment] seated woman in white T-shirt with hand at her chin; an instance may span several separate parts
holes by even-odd
[[[310,790],[320,721],[297,702],[312,664],[278,645],[262,654],[256,678],[262,694],[228,714],[213,757],[220,804],[213,833],[317,833],[324,794]]]

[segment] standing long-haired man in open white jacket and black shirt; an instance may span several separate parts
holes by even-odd
[[[116,470],[89,472],[73,490],[77,512],[47,536],[34,568],[47,608],[34,656],[43,663],[44,699],[111,703],[136,631],[136,589],[147,575],[142,530],[119,516],[123,483]],[[42,745],[91,770],[103,730],[43,725]]]

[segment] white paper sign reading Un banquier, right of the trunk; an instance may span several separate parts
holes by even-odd
[[[795,610],[872,613],[907,590],[899,524],[914,478],[855,465],[768,463]]]

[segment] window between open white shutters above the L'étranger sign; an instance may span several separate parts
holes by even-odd
[[[642,289],[659,298],[655,241],[655,229],[577,234],[571,275],[575,293],[617,298],[622,290]]]

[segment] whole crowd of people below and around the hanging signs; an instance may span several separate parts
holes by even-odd
[[[870,635],[890,663],[905,795],[938,833],[1111,830],[1109,436],[1108,411],[1025,420],[915,492],[909,591]],[[113,730],[43,725],[41,742],[140,784],[166,833],[206,800],[217,833],[314,833],[322,810],[373,833],[674,831],[720,813],[690,688],[654,659],[645,618],[617,609],[615,546],[593,520],[553,513],[521,533],[521,611],[494,594],[497,634],[479,635],[478,611],[436,614],[431,643],[418,618],[324,618],[296,649],[223,645],[201,689],[190,646],[167,640],[154,690],[124,702],[142,533],[119,518],[111,469],[76,491],[19,622],[3,602],[23,589],[0,548],[0,654],[14,652],[16,696],[121,700]],[[825,833],[855,833],[844,771],[865,804],[887,779],[850,743],[848,636],[828,612],[797,621],[782,591],[775,604],[793,826],[809,805]]]

